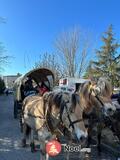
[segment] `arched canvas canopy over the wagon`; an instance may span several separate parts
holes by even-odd
[[[54,85],[54,74],[48,68],[38,68],[27,72],[25,75],[19,77],[14,83],[14,97],[15,100],[21,100],[21,85],[25,83],[27,78],[31,78],[34,81],[35,86],[39,86],[41,82],[44,82],[47,87],[52,90]]]

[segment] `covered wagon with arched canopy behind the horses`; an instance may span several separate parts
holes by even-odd
[[[26,87],[26,82],[31,82],[32,87]],[[26,96],[35,95],[39,92],[41,83],[44,83],[48,91],[51,91],[54,83],[54,74],[47,68],[31,70],[19,77],[14,83],[14,118],[21,111],[22,102]],[[27,88],[27,91],[26,91]]]

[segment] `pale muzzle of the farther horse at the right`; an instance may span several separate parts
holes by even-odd
[[[116,107],[113,103],[105,103],[104,110],[106,116],[112,116],[116,111]]]

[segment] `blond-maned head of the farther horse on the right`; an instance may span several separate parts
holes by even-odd
[[[100,78],[97,83],[86,83],[81,88],[82,102],[86,111],[102,109],[106,116],[112,115],[116,108],[111,100],[112,87],[105,78]]]

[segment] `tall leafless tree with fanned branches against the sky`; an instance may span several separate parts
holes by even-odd
[[[80,77],[87,67],[90,40],[88,35],[83,37],[81,35],[80,29],[74,28],[61,33],[55,40],[55,48],[64,64],[67,76],[70,77]]]

